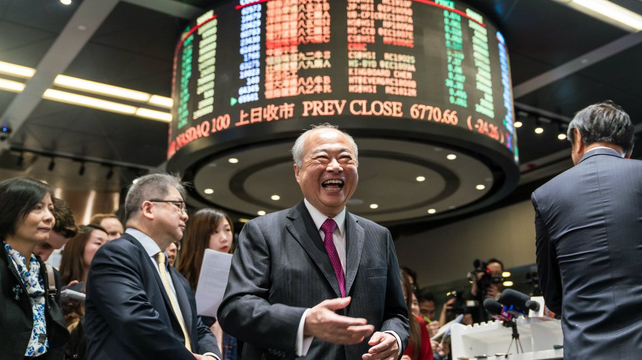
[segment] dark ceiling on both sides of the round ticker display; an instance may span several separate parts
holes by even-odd
[[[114,6],[105,10],[106,3]],[[215,3],[73,0],[65,6],[58,0],[3,0],[0,61],[39,70],[58,65],[68,76],[169,96],[172,56],[180,31],[189,18]],[[510,54],[516,111],[528,112],[527,116],[521,113],[524,126],[517,131],[522,180],[505,201],[526,199],[534,184],[568,168],[569,144],[557,140],[557,122],[568,122],[584,106],[611,99],[630,114],[636,129],[642,126],[641,33],[629,33],[553,0],[467,3],[489,16],[503,33]],[[641,7],[638,0],[618,3],[634,11]],[[71,61],[53,65],[51,60],[45,61],[53,48],[65,51],[65,44],[56,43],[56,39],[64,35],[65,27],[79,26],[71,23],[76,10],[83,5],[98,6],[94,4],[103,6],[104,19],[89,40],[75,44],[79,50],[73,49],[72,42],[77,40],[70,40]],[[83,26],[92,31],[91,24]],[[42,100],[39,95],[25,99],[27,95],[0,90],[2,122],[12,120],[7,119],[10,114],[6,110],[13,102],[34,104],[10,138],[13,151],[31,150],[41,156],[130,169],[162,168],[168,140],[166,123]],[[541,135],[533,133],[537,117],[553,120],[544,123]],[[639,148],[634,158],[642,155]],[[123,185],[130,181],[127,176],[134,176],[133,172],[120,173]],[[7,176],[0,168],[0,177]],[[97,181],[95,186],[103,185]]]

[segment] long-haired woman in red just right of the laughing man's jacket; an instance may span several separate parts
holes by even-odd
[[[403,297],[408,306],[408,323],[410,323],[410,338],[408,339],[408,347],[403,353],[401,360],[433,360],[433,349],[430,345],[430,338],[428,336],[428,328],[426,322],[419,316],[419,314],[411,311],[413,308],[413,299],[417,301],[413,293],[413,286],[408,279],[406,272],[401,270],[401,290],[403,290]],[[419,311],[419,304],[416,306]]]

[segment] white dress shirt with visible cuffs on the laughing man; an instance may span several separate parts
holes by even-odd
[[[312,217],[312,221],[315,223],[315,226],[317,227],[319,234],[321,235],[322,241],[325,238],[325,231],[321,229],[321,225],[327,220],[327,216],[323,215],[321,211],[318,211],[317,208],[312,206],[312,204],[309,203],[308,199],[303,199],[304,204],[306,205],[306,209],[308,209],[308,212],[310,213],[310,216]],[[332,240],[334,242],[334,247],[336,247],[336,252],[339,255],[339,259],[341,260],[341,267],[343,268],[343,277],[345,279],[345,207],[343,210],[336,215],[336,217],[333,217],[331,219],[336,222],[336,227],[334,228],[334,231],[332,232]],[[312,344],[312,340],[314,339],[314,336],[304,336],[303,335],[303,329],[304,325],[306,323],[306,315],[308,315],[308,311],[310,309],[307,309],[304,313],[303,316],[301,316],[301,321],[299,322],[299,329],[297,331],[297,342],[295,343],[295,351],[297,353],[297,356],[305,356],[308,354],[308,350],[310,348],[310,345]],[[397,345],[399,345],[399,354],[401,354],[401,338],[399,338],[399,335],[397,335],[396,332],[394,331],[385,331],[392,336],[394,336],[397,339]]]

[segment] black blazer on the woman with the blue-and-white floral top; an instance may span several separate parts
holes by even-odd
[[[1,244],[1,242],[0,242]],[[18,275],[9,254],[0,246],[0,357],[3,360],[22,360],[33,331],[33,311],[24,285]],[[40,258],[40,277],[45,283],[45,313],[47,321],[47,338],[49,349],[44,358],[47,360],[62,359],[69,332],[60,309],[60,275],[54,272],[56,294],[50,294],[47,284],[47,268]],[[20,288],[19,299],[15,299],[13,288]]]

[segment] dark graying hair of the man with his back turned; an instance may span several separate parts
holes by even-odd
[[[580,131],[585,145],[607,142],[620,146],[625,154],[633,150],[635,131],[631,119],[620,106],[610,100],[589,105],[575,114],[566,134],[571,143],[574,138],[573,129]]]

